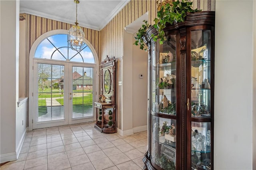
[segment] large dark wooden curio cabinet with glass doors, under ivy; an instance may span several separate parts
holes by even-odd
[[[148,170],[211,170],[214,134],[215,12],[188,13],[164,29],[163,44],[150,27]]]

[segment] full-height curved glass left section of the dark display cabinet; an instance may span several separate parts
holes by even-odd
[[[155,45],[151,65],[151,160],[164,170],[176,170],[176,35]]]

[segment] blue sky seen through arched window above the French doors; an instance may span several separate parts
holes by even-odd
[[[68,40],[67,34],[56,34],[44,39],[38,45],[34,57],[51,59],[51,56],[52,56],[52,59],[57,59],[62,61],[66,61],[66,59],[70,59],[70,61],[76,61],[76,62],[95,63],[92,51],[88,46],[85,47],[82,51],[80,51],[80,54],[79,54],[77,51],[72,50],[71,48],[68,48],[67,40]]]

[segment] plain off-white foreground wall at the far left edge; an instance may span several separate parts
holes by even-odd
[[[16,159],[19,1],[0,1],[0,162]],[[12,34],[10,34],[12,33]]]

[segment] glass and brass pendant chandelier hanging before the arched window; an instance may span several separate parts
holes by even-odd
[[[73,50],[80,51],[85,45],[84,32],[77,22],[77,4],[79,0],[74,0],[76,3],[76,22],[74,26],[68,31],[68,47],[71,47]]]

